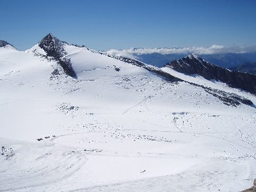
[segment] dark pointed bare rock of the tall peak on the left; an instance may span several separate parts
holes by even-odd
[[[45,38],[43,38],[38,46],[47,53],[47,56],[54,58],[65,71],[68,76],[76,77],[76,72],[72,68],[72,63],[70,59],[65,58],[67,52],[63,48],[63,45],[67,44],[66,42],[61,42],[58,38],[49,33]]]

